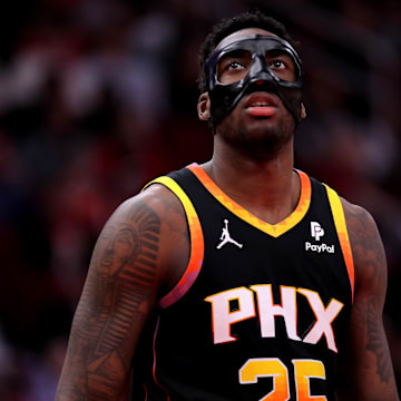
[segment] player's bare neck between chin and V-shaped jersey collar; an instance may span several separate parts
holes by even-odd
[[[274,157],[250,157],[235,148],[215,146],[202,167],[233,200],[270,224],[277,224],[296,207],[301,184],[293,170],[293,143]]]

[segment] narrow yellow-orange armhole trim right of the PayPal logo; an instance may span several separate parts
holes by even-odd
[[[330,206],[332,209],[333,218],[334,218],[334,225],[335,229],[339,236],[340,246],[342,250],[342,254],[345,261],[345,266],[348,270],[349,278],[350,278],[350,285],[351,285],[351,294],[352,294],[352,302],[354,299],[354,287],[355,287],[355,272],[354,272],[354,262],[351,251],[351,244],[350,238],[346,229],[346,223],[345,223],[345,215],[344,209],[341,204],[340,197],[338,193],[332,189],[330,186],[324,184],[327,197],[330,202]]]

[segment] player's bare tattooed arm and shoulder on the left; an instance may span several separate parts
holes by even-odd
[[[166,197],[166,192],[155,186],[127,200],[102,229],[75,314],[56,400],[117,400],[121,393],[159,291],[185,266],[185,217],[179,202],[172,194]],[[159,195],[168,202],[157,200]],[[164,215],[172,217],[160,218]],[[168,265],[175,260],[172,274]]]

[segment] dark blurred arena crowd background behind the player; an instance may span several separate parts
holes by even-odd
[[[50,401],[107,217],[150,178],[209,158],[197,49],[258,7],[301,41],[296,166],[366,207],[389,262],[401,383],[399,0],[14,0],[0,17],[0,399]]]

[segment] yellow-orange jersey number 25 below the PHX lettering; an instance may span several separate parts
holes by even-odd
[[[324,365],[315,360],[293,360],[297,401],[326,401],[324,395],[311,395],[310,378],[325,379]],[[288,370],[277,358],[247,360],[239,369],[239,383],[257,383],[258,378],[273,378],[273,390],[260,401],[290,400]]]

